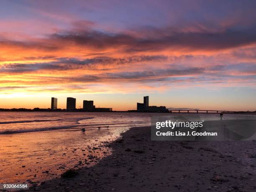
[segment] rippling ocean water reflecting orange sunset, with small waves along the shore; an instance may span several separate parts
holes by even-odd
[[[151,116],[220,118],[218,114],[0,112],[0,183],[40,182],[69,168],[92,166],[111,154],[105,144],[131,127],[149,126]],[[251,117],[223,117],[245,118]]]

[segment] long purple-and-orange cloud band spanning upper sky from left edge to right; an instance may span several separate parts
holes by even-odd
[[[168,28],[167,28],[168,29]],[[143,31],[143,30],[141,30]],[[43,49],[48,51],[61,50],[70,45],[87,47],[97,51],[109,48],[118,49],[123,53],[143,51],[160,51],[164,49],[220,50],[256,43],[256,28],[248,30],[232,30],[207,32],[173,32],[159,28],[156,36],[141,36],[130,33],[109,33],[97,30],[77,30],[54,33],[48,38],[37,41],[0,41],[1,46],[16,46],[25,49]]]

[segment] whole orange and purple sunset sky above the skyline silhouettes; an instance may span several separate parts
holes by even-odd
[[[256,110],[255,1],[0,5],[0,108]]]

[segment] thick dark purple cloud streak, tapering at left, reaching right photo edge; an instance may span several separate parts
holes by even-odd
[[[166,30],[165,28],[158,31]],[[256,30],[222,32],[159,32],[162,36],[135,37],[125,33],[103,33],[100,31],[69,31],[56,33],[50,39],[57,42],[73,43],[94,49],[120,48],[123,52],[154,51],[163,49],[218,50],[235,48],[256,42]]]

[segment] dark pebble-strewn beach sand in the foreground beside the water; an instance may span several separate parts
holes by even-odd
[[[30,190],[256,191],[256,141],[151,141],[150,127],[121,135],[95,166]]]

